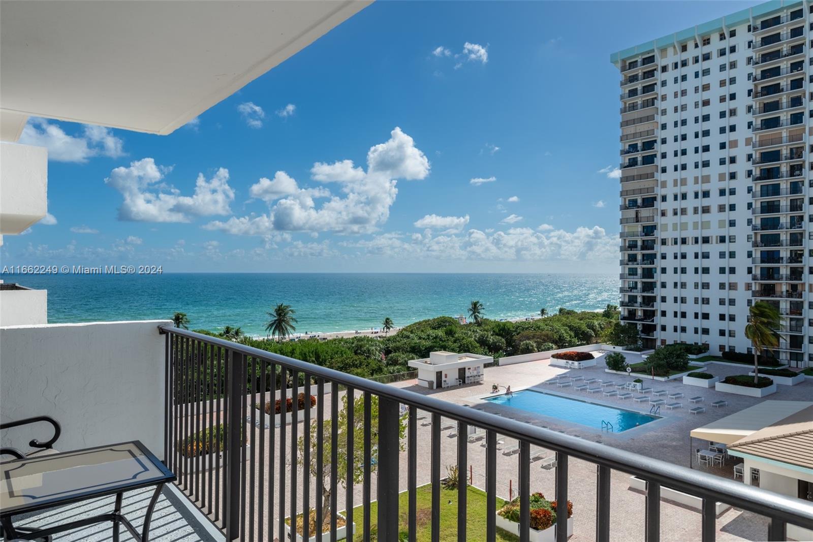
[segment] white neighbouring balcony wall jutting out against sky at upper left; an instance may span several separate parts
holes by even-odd
[[[48,150],[0,143],[0,235],[24,232],[48,212]]]

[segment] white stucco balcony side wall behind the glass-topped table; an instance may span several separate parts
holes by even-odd
[[[62,425],[61,450],[141,440],[163,457],[163,323],[0,327],[0,420],[46,414]],[[28,449],[33,437],[50,427],[3,431],[0,444]]]

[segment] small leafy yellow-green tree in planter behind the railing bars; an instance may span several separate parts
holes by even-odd
[[[333,436],[333,423],[330,420],[324,420],[323,424],[323,432],[322,432],[322,442],[324,443],[323,446],[323,453],[322,453],[322,518],[324,521],[324,525],[322,528],[317,532],[317,528],[315,525],[315,513],[312,509],[307,510],[307,514],[309,517],[313,518],[313,521],[310,522],[310,532],[307,535],[307,538],[303,536],[302,533],[302,514],[297,516],[297,529],[295,538],[292,537],[290,522],[291,518],[285,518],[285,540],[291,540],[292,542],[296,540],[297,542],[304,542],[304,540],[308,540],[308,542],[328,542],[330,540],[330,519],[333,516],[334,510],[330,507],[331,501],[331,492],[330,492],[330,479],[333,473],[333,469],[336,469],[336,477],[341,485],[342,488],[345,487],[347,475],[350,474],[353,479],[354,483],[362,483],[363,476],[364,476],[364,461],[362,458],[363,449],[364,449],[364,397],[356,397],[353,403],[353,417],[349,419],[347,415],[347,401],[348,397],[345,395],[341,397],[342,407],[339,410],[339,416],[337,418],[337,426],[338,431],[335,436]],[[353,424],[353,457],[347,457],[347,427],[348,424]],[[378,427],[378,397],[372,396],[370,401],[370,423],[372,427]],[[311,423],[310,427],[311,431],[311,443],[316,442],[319,426],[314,422]],[[400,439],[403,439],[406,436],[406,414],[404,414],[401,418],[398,419],[398,435]],[[330,461],[330,458],[333,454],[333,449],[331,448],[333,445],[337,446],[337,457],[338,462],[336,465]],[[308,469],[311,471],[311,476],[315,479],[317,475],[319,475],[318,466],[319,466],[319,457],[316,456],[311,450],[311,462],[310,464],[305,464],[305,437],[300,436],[298,441],[298,464],[302,469]],[[376,431],[372,432],[371,440],[370,440],[370,472],[376,472],[378,466],[378,434]],[[350,469],[348,471],[348,469]],[[318,498],[318,497],[317,497]],[[346,525],[346,518],[342,514],[336,514],[336,522],[337,527],[340,524],[343,524],[341,528],[337,528],[337,539],[336,540],[351,540],[353,537],[353,533],[355,532],[355,523],[353,525]]]

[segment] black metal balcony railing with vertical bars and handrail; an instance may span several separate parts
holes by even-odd
[[[478,536],[477,540],[496,539],[498,436],[515,439],[519,444],[520,479],[516,490],[520,497],[522,542],[528,540],[530,533],[532,445],[550,449],[556,455],[555,496],[559,503],[566,503],[568,498],[568,463],[578,459],[596,465],[599,498],[595,538],[599,542],[611,539],[611,470],[646,480],[644,530],[647,542],[659,540],[662,486],[702,498],[704,541],[715,537],[717,501],[770,518],[767,540],[785,540],[788,523],[813,528],[813,505],[789,496],[228,340],[168,325],[159,327],[159,331],[166,336],[164,454],[167,466],[178,475],[180,489],[210,514],[215,524],[224,530],[227,540],[271,542],[275,528],[276,537],[287,540],[286,518],[302,515],[304,531],[308,532],[311,510],[315,525],[321,526],[327,519],[330,538],[337,540],[336,513],[341,509],[339,484],[344,486],[341,505],[346,525],[352,526],[358,519],[361,522],[358,531],[363,540],[371,540],[374,520],[377,520],[377,540],[399,540],[402,516],[406,518],[409,540],[415,540],[419,413],[431,418],[431,453],[420,457],[420,461],[428,462],[430,472],[429,524],[433,541],[439,540],[441,535],[441,417],[457,425],[457,465],[463,472],[468,463],[468,428],[485,431],[486,527],[485,535]],[[311,405],[314,388],[315,405]],[[264,414],[267,401],[271,401],[269,410],[276,408],[277,393],[284,414],[289,392],[293,396],[300,389],[304,392],[301,437],[295,421],[299,415],[298,397],[292,397],[294,422],[289,426],[280,420],[280,427],[276,428],[273,419]],[[340,397],[342,393],[344,397]],[[344,404],[341,414],[340,402]],[[373,410],[377,423],[372,421]],[[263,429],[266,420],[269,422],[267,431]],[[259,431],[255,431],[257,423]],[[355,431],[363,434],[362,449],[354,448]],[[406,465],[399,464],[402,446],[407,453]],[[346,464],[360,465],[363,472],[358,478],[353,469],[348,468],[346,479],[338,479],[336,466],[340,453]],[[313,459],[315,472],[311,473],[309,467]],[[373,470],[376,473],[376,518],[372,517],[371,508]],[[406,514],[399,514],[402,470],[406,470]],[[361,518],[354,518],[357,484],[361,485],[363,495]],[[471,540],[467,536],[471,533],[466,529],[465,475],[459,476],[457,491],[457,540]],[[326,499],[325,505],[323,499]],[[555,525],[557,542],[566,542],[567,514],[557,514]]]

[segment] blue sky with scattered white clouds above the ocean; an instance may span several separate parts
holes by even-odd
[[[615,271],[609,54],[755,3],[376,2],[169,136],[32,119],[2,262]]]

